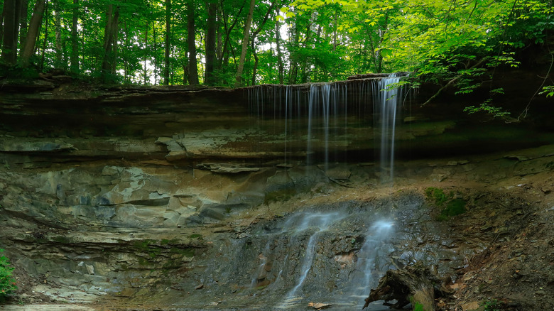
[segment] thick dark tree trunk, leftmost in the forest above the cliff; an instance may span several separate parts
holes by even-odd
[[[17,38],[19,31],[17,0],[4,1],[4,37],[2,38],[1,58],[7,65],[16,65]]]

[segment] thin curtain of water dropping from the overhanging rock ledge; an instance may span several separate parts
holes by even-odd
[[[396,119],[406,90],[401,75],[352,80],[347,82],[300,85],[260,85],[248,89],[252,125],[260,135],[260,144],[268,148],[282,146],[285,163],[304,154],[306,165],[330,163],[378,162],[377,175],[382,183],[394,175],[394,138]],[[271,137],[264,141],[263,135]],[[371,146],[378,151],[359,148]],[[264,147],[260,147],[263,151]],[[364,158],[366,157],[366,158]]]

